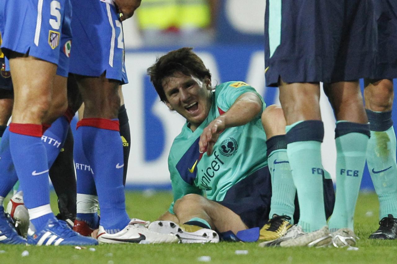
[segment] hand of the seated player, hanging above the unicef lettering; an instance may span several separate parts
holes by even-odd
[[[218,140],[219,135],[225,130],[225,118],[224,116],[219,116],[214,119],[206,128],[204,128],[200,141],[198,142],[200,152],[207,152],[207,155],[210,156],[212,154],[213,147],[215,142]]]

